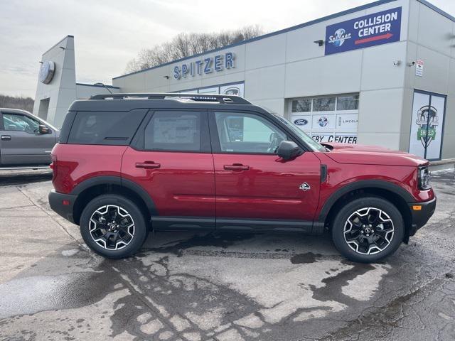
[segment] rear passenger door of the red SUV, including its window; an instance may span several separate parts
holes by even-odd
[[[162,110],[145,122],[139,143],[124,153],[122,177],[141,185],[154,201],[154,229],[214,229],[207,112]]]

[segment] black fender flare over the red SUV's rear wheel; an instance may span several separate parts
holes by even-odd
[[[73,188],[71,191],[71,195],[80,195],[83,191],[95,187],[97,185],[117,185],[120,187],[128,188],[132,190],[135,194],[139,195],[139,197],[144,201],[147,210],[149,210],[150,215],[158,215],[158,211],[156,210],[156,205],[154,200],[150,197],[149,193],[137,183],[134,183],[132,180],[128,180],[125,178],[121,178],[120,176],[114,175],[98,175],[94,176],[93,178],[87,179],[82,181]]]

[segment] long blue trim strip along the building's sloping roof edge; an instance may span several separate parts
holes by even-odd
[[[148,67],[148,68],[146,68],[144,70],[129,72],[129,73],[125,74],[125,75],[113,77],[112,80],[117,80],[118,78],[134,75],[134,74],[137,74],[137,73],[140,73],[140,72],[153,70],[153,69],[156,69],[158,67],[164,67],[166,65],[171,65],[173,63],[179,63],[179,62],[182,62],[183,60],[196,58],[196,57],[198,57],[200,55],[206,55],[208,53],[214,53],[214,52],[219,51],[219,50],[225,50],[226,48],[233,48],[235,46],[245,45],[247,43],[251,43],[251,42],[256,41],[256,40],[262,40],[264,38],[277,36],[279,34],[287,33],[289,31],[295,31],[295,30],[298,30],[299,28],[303,28],[303,27],[306,27],[306,26],[311,26],[311,25],[314,25],[316,23],[321,23],[323,21],[328,21],[328,20],[333,19],[333,18],[338,18],[339,16],[346,16],[346,14],[350,14],[350,13],[354,13],[354,12],[358,12],[358,11],[363,11],[364,9],[370,9],[371,7],[379,6],[379,5],[382,5],[382,4],[388,4],[390,2],[395,2],[395,1],[397,1],[397,0],[378,0],[378,1],[374,1],[374,2],[371,2],[370,4],[357,6],[357,7],[354,7],[353,9],[346,9],[345,11],[341,11],[341,12],[338,12],[338,13],[333,13],[333,14],[330,14],[328,16],[323,16],[322,18],[318,18],[318,19],[314,19],[314,20],[311,20],[311,21],[307,21],[306,23],[299,23],[299,25],[291,26],[291,27],[288,27],[288,28],[283,28],[282,30],[279,30],[279,31],[274,31],[274,32],[271,32],[271,33],[263,34],[262,36],[257,36],[255,38],[242,40],[239,43],[233,43],[233,44],[230,44],[230,45],[225,45],[225,46],[223,46],[221,48],[215,48],[213,50],[208,50],[208,51],[205,51],[203,53],[197,53],[196,55],[190,55],[190,56],[185,57],[185,58],[172,60],[171,62],[164,63],[164,64],[161,64],[161,65],[156,65],[156,66],[153,66],[153,67]]]

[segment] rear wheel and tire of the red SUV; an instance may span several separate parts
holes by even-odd
[[[122,259],[141,249],[149,227],[144,213],[132,200],[108,194],[95,197],[85,206],[80,216],[80,234],[95,253]]]

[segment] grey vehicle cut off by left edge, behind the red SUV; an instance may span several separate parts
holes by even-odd
[[[0,163],[2,166],[50,163],[55,131],[40,134],[40,121],[26,114],[2,112],[0,125]]]

